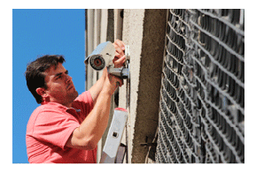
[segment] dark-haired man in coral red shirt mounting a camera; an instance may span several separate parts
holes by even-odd
[[[113,64],[120,66],[125,62],[124,43],[117,40],[113,45]],[[105,69],[97,83],[78,96],[64,62],[63,56],[42,56],[27,65],[27,87],[41,103],[27,123],[30,163],[95,163],[112,93],[122,85]]]

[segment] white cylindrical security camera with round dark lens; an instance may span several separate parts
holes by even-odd
[[[97,46],[96,49],[85,59],[84,63],[89,64],[94,70],[102,71],[105,67],[112,65],[115,56],[115,49],[111,41],[106,41]]]

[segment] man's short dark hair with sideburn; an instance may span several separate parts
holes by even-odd
[[[34,95],[35,101],[38,104],[42,102],[42,97],[36,93],[36,88],[44,87],[47,89],[46,83],[44,82],[45,75],[43,72],[52,65],[55,65],[55,68],[57,68],[58,63],[63,64],[64,62],[64,56],[45,55],[38,57],[34,62],[27,64],[27,71],[25,72],[27,88]]]

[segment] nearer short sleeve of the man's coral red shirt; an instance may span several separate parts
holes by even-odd
[[[36,118],[33,136],[65,150],[67,139],[80,123],[68,113],[43,110]]]

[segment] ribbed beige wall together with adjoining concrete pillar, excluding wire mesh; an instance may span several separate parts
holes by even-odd
[[[122,13],[123,12],[123,13]],[[128,125],[122,143],[128,146],[125,162],[144,163],[149,147],[140,143],[154,138],[159,120],[159,90],[167,26],[167,10],[106,9],[87,11],[87,54],[104,41],[120,39],[130,46],[129,82],[119,90],[119,107],[127,108]],[[114,40],[112,40],[114,39]],[[101,73],[87,70],[87,89]],[[113,102],[113,98],[112,98]],[[112,120],[112,112],[110,121]],[[97,161],[105,144],[105,135],[98,144]]]

